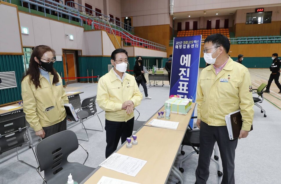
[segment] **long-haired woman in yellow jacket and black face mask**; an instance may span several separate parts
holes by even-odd
[[[25,118],[42,138],[66,130],[64,103],[68,103],[68,98],[61,77],[53,68],[54,56],[55,51],[48,46],[34,47],[21,81]]]

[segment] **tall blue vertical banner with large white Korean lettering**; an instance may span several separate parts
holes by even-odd
[[[174,38],[169,95],[196,99],[201,38],[201,35]],[[192,120],[189,126],[193,128]]]

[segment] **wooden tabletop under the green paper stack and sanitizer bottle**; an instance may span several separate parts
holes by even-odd
[[[179,131],[186,131],[187,127],[188,127],[188,124],[189,124],[189,121],[191,119],[191,116],[192,116],[192,114],[194,112],[195,105],[196,105],[196,103],[192,103],[191,109],[188,111],[188,113],[186,115],[171,113],[171,118],[169,120],[167,120],[165,118],[161,118],[160,120],[179,122],[177,130],[179,130]],[[160,111],[164,111],[164,116],[165,116],[165,107],[164,107],[164,105],[163,105],[163,107],[161,109],[159,109],[158,112],[160,112]],[[158,112],[156,112],[156,114],[154,114],[154,116],[152,116],[143,125],[151,126],[148,123],[151,122],[151,120],[153,120],[153,119],[157,119]]]

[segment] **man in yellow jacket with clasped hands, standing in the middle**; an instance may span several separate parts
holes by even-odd
[[[126,73],[127,51],[113,51],[111,64],[114,68],[99,79],[96,95],[98,106],[105,111],[106,158],[116,150],[120,137],[123,144],[132,135],[134,107],[143,98],[135,77]]]

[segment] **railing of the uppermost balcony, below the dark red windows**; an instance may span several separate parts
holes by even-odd
[[[123,23],[123,22],[117,21],[116,19],[111,18],[111,17],[109,17],[109,16],[107,16],[107,15],[104,15],[104,14],[102,14],[102,13],[100,13],[100,12],[97,12],[97,11],[95,11],[95,10],[92,10],[92,9],[90,9],[90,8],[87,8],[87,7],[85,7],[85,6],[83,6],[83,5],[79,4],[79,3],[76,3],[76,2],[74,2],[74,1],[67,1],[65,4],[68,5],[68,6],[70,6],[70,7],[72,7],[72,8],[74,8],[75,5],[77,5],[77,6],[78,6],[78,9],[77,9],[77,10],[78,10],[79,12],[81,12],[80,14],[84,14],[84,15],[86,15],[86,16],[88,16],[88,17],[102,16],[102,17],[106,18],[109,22],[111,22],[111,23],[113,23],[113,24],[115,23],[114,25],[119,26],[119,27],[122,27],[123,29],[128,30],[128,31],[130,31],[130,32],[134,32],[134,27],[129,26],[129,25]],[[75,8],[75,9],[76,9],[76,8]],[[90,12],[91,12],[91,13],[90,13]]]

